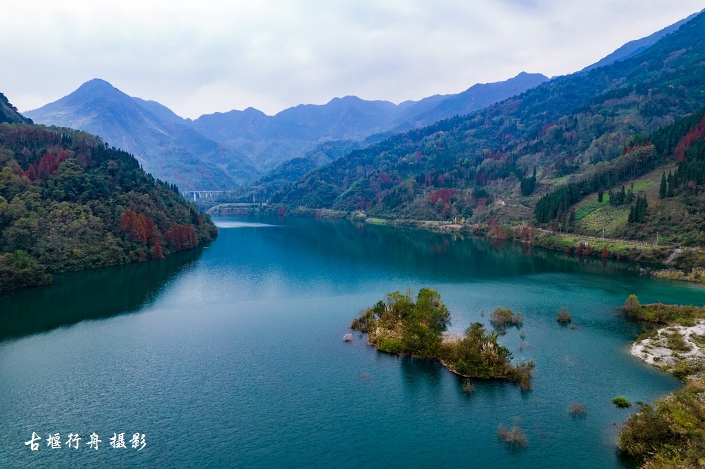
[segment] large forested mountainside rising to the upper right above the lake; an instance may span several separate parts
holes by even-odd
[[[363,209],[391,218],[452,220],[457,216],[477,222],[524,220],[565,226],[571,208],[580,201],[578,190],[583,196],[589,195],[584,192],[589,188],[595,193],[599,188],[616,193],[646,170],[658,171],[658,178],[678,170],[676,145],[654,143],[664,140],[655,132],[697,113],[704,104],[705,14],[701,13],[630,58],[555,78],[470,115],[352,151],[307,173],[272,201],[290,211],[300,206]],[[688,123],[692,120],[686,118]],[[699,135],[697,121],[692,125],[695,130],[685,128],[682,135],[676,132],[669,138],[678,144],[689,135],[686,140],[692,144]],[[697,169],[689,171],[698,174]],[[687,177],[673,182],[685,185],[685,189],[678,186],[676,194],[683,190],[684,197],[701,194],[698,177]],[[571,185],[584,180],[590,185]],[[632,206],[639,190],[637,184]],[[557,204],[538,213],[541,196],[554,192]],[[697,206],[705,206],[703,202],[689,199],[685,213],[700,213]],[[628,206],[621,207],[613,213],[620,220],[611,225],[613,235],[655,237],[653,227],[630,222]],[[577,213],[575,218],[581,216]],[[584,230],[596,235],[603,226],[596,223]],[[681,234],[673,241],[692,243],[693,239],[697,237]]]

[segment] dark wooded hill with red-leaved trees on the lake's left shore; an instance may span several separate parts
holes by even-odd
[[[4,119],[7,108],[2,96]],[[133,156],[98,137],[0,125],[0,292],[51,273],[162,258],[213,239],[216,227]]]

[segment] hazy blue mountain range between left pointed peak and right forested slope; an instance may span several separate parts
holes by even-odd
[[[399,105],[344,96],[323,105],[300,104],[274,116],[254,108],[207,114],[188,121],[188,125],[215,142],[247,154],[255,168],[266,172],[325,142],[362,141],[374,134],[427,125],[501,101],[546,80],[541,74],[520,73],[505,82],[474,85],[460,94],[430,96]]]

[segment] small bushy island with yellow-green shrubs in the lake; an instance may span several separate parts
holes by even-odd
[[[414,301],[407,290],[388,293],[384,301],[360,312],[350,328],[367,334],[367,342],[388,354],[433,358],[466,378],[503,379],[531,389],[533,362],[511,363],[511,352],[497,343],[498,333],[473,323],[460,337],[443,335],[450,312],[434,289],[422,288]]]

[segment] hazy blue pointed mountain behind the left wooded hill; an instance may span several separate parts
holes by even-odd
[[[258,174],[247,158],[200,135],[165,106],[133,99],[104,80],[90,80],[26,114],[37,123],[100,135],[181,189],[230,189]]]

